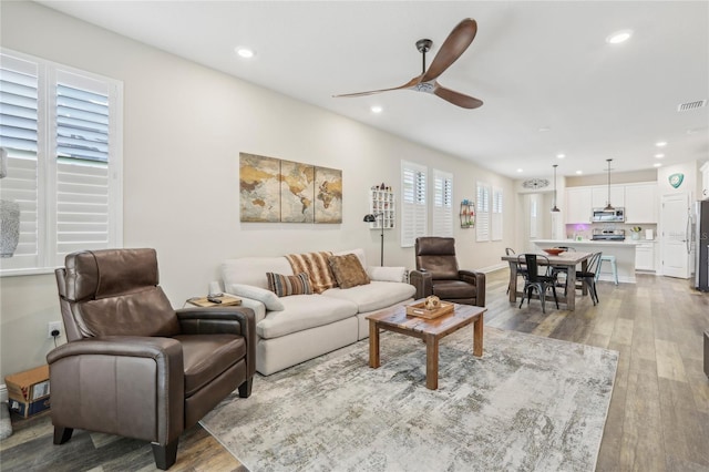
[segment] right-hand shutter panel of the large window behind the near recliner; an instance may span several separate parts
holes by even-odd
[[[109,124],[105,83],[71,73],[56,81],[56,255],[109,247]]]

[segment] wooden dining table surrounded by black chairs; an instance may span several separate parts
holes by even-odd
[[[580,264],[580,270],[586,271],[588,267],[588,258],[593,253],[565,252],[558,255],[538,254],[544,257],[537,257],[538,265],[548,265],[555,267],[564,267],[566,269],[566,287],[565,294],[558,296],[558,301],[566,304],[566,309],[574,311],[576,309],[576,266]],[[517,296],[522,296],[522,291],[517,291],[517,257],[521,254],[511,254],[502,256],[502,260],[510,263],[510,301],[517,300]],[[582,286],[582,295],[588,294],[586,285]]]

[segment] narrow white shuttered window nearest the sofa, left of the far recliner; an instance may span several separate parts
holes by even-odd
[[[401,162],[401,247],[412,247],[427,232],[427,168]]]

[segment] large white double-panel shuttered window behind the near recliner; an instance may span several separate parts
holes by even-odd
[[[0,146],[9,157],[0,196],[20,207],[19,245],[2,276],[121,247],[121,82],[2,50]]]

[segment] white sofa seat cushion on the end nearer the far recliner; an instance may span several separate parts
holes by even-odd
[[[390,307],[413,297],[417,289],[409,284],[395,281],[377,281],[357,287],[341,289],[331,288],[322,293],[323,297],[349,300],[357,305],[358,312],[367,312]]]

